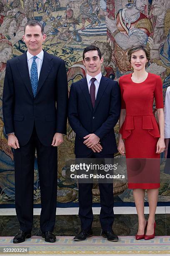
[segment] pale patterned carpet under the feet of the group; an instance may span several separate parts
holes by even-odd
[[[39,236],[32,236],[22,244],[13,244],[13,237],[0,237],[2,248],[29,248],[30,254],[169,254],[170,236],[156,236],[150,241],[136,241],[134,236],[120,236],[118,242],[93,236],[75,242],[71,236],[57,237],[56,243],[46,243]]]

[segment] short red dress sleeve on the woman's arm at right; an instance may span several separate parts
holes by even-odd
[[[159,76],[156,81],[154,97],[156,108],[163,108],[163,83]]]

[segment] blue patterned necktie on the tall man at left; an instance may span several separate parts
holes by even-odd
[[[33,57],[32,65],[31,65],[31,74],[30,74],[30,80],[31,80],[31,87],[34,97],[37,93],[37,86],[38,86],[38,71],[37,71],[37,63],[35,60],[37,59],[37,56]]]

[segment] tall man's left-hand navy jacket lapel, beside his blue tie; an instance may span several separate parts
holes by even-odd
[[[19,61],[17,62],[17,67],[20,72],[20,75],[23,79],[23,82],[25,86],[27,87],[28,92],[32,97],[32,88],[31,88],[31,82],[30,82],[30,74],[28,71],[28,63],[27,63],[27,53],[25,52],[23,55],[18,57]],[[23,72],[24,70],[24,72]]]

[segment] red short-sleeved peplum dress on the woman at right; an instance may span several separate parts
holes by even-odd
[[[148,73],[141,83],[133,82],[131,76],[119,80],[121,108],[126,109],[120,133],[125,141],[128,188],[159,188],[160,154],[156,154],[156,146],[160,132],[153,115],[153,100],[157,109],[163,108],[163,85],[155,74]]]

